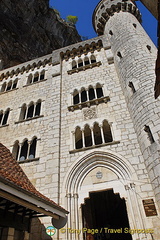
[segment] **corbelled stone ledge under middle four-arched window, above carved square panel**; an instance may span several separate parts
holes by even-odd
[[[77,109],[82,109],[84,107],[90,107],[91,105],[98,105],[99,103],[103,103],[103,102],[107,103],[109,101],[110,101],[109,96],[96,98],[96,99],[93,99],[93,100],[90,100],[87,102],[82,102],[82,103],[78,103],[78,104],[69,106],[68,110],[73,112],[74,110],[77,110]]]

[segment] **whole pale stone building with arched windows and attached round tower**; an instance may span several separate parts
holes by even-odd
[[[140,22],[132,1],[102,0],[98,37],[1,71],[0,141],[70,212],[54,239],[158,240],[157,49]]]

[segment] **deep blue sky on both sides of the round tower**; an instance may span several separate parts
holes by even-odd
[[[78,22],[76,28],[78,33],[90,39],[97,36],[92,26],[92,14],[99,1],[100,0],[50,0],[50,6],[57,9],[63,19],[66,19],[68,15],[77,16]],[[152,41],[157,45],[157,21],[141,2],[137,2],[137,5],[142,13],[142,25]]]

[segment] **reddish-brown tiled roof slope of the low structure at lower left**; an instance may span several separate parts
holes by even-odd
[[[50,200],[33,186],[18,162],[14,159],[9,149],[0,143],[0,182],[18,189],[36,200],[54,207],[63,213],[68,213],[54,201]]]

